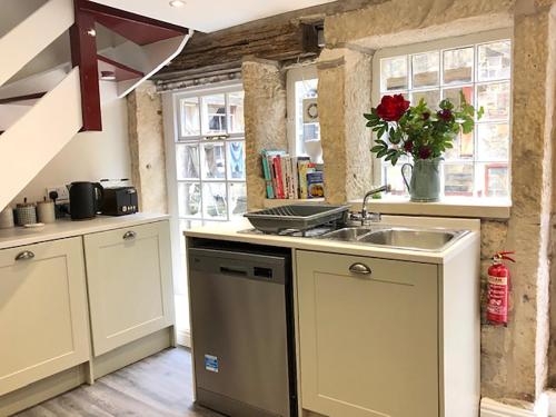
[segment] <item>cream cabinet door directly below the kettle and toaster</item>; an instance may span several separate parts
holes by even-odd
[[[168,221],[85,237],[95,356],[173,322]]]

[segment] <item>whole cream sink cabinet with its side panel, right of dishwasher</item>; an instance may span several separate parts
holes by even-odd
[[[434,265],[296,254],[304,409],[329,417],[478,414],[478,280],[461,272],[473,271],[473,258]]]

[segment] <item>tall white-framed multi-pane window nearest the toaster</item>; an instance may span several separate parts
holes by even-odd
[[[244,91],[176,96],[176,182],[180,229],[247,210]]]

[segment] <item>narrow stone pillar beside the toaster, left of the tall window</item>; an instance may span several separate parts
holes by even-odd
[[[168,212],[162,101],[152,82],[128,96],[131,179],[139,193],[139,208]]]

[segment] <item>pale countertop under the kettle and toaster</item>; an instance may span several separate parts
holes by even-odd
[[[90,220],[79,221],[71,221],[69,218],[59,219],[53,224],[44,225],[44,227],[37,229],[24,227],[0,229],[0,249],[97,234],[99,231],[127,228],[166,219],[169,219],[168,215],[138,212],[136,215],[119,217],[98,216]]]

